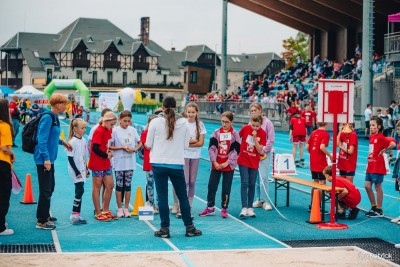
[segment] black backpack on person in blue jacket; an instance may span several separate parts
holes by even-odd
[[[39,127],[39,122],[40,119],[44,116],[44,115],[50,115],[53,123],[51,124],[51,129],[53,129],[53,126],[56,122],[56,118],[55,116],[50,113],[50,112],[43,112],[40,113],[36,116],[36,118],[34,118],[33,120],[31,120],[30,122],[28,122],[27,124],[25,124],[24,129],[22,130],[22,150],[28,153],[33,154],[35,152],[35,147],[37,145],[37,130]]]

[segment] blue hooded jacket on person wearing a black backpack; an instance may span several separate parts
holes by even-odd
[[[43,115],[38,125],[38,144],[33,153],[36,165],[44,165],[46,160],[50,160],[51,164],[54,164],[54,161],[57,159],[58,144],[62,144],[60,140],[60,121],[58,120],[58,116],[52,111],[46,110],[46,112],[51,112],[52,115]],[[56,119],[54,124],[52,116]],[[51,127],[52,124],[53,128]]]

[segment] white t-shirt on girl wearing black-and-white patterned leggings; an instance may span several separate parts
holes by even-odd
[[[136,147],[140,141],[138,132],[132,126],[123,129],[117,126],[112,133],[112,146]],[[122,149],[113,150],[113,167],[115,171],[129,171],[136,169],[136,153],[128,153]]]

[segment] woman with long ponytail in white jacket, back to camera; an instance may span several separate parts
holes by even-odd
[[[173,97],[163,100],[163,112],[149,125],[146,147],[150,148],[150,163],[158,193],[161,228],[155,231],[157,237],[169,238],[168,178],[179,199],[182,220],[186,226],[186,236],[198,236],[190,214],[184,175],[184,149],[189,147],[187,120],[175,113],[176,101]]]

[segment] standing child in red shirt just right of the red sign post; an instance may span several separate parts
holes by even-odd
[[[337,136],[339,151],[338,169],[340,176],[353,183],[357,167],[358,139],[351,123],[344,123]]]

